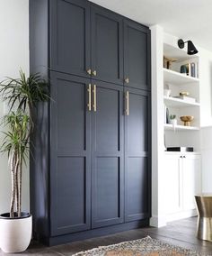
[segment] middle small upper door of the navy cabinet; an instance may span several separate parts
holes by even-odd
[[[122,17],[92,5],[93,78],[123,85]]]

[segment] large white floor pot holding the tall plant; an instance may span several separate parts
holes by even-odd
[[[0,248],[6,253],[25,251],[31,242],[32,217],[8,218],[0,215]]]

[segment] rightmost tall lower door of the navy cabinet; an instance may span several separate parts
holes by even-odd
[[[125,89],[125,221],[150,216],[150,96]]]

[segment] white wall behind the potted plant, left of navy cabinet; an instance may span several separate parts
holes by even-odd
[[[29,74],[29,0],[0,0],[0,10],[0,80],[17,78],[20,68]],[[3,114],[0,100],[0,118]],[[28,168],[23,170],[23,177],[22,210],[29,211]],[[0,213],[9,210],[10,187],[7,157],[0,153]]]

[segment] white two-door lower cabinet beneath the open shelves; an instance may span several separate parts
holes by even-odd
[[[165,214],[167,221],[196,215],[195,198],[201,193],[201,156],[165,153]]]

